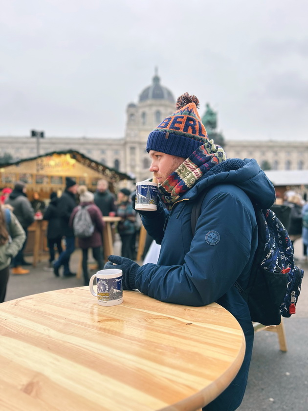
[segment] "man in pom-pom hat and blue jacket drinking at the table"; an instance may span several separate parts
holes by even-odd
[[[233,411],[242,402],[254,334],[247,303],[233,284],[238,281],[246,287],[258,245],[251,200],[269,208],[275,190],[255,160],[226,160],[223,149],[208,140],[197,97],[185,93],[176,108],[147,142],[160,201],[157,211],[139,213],[149,234],[161,244],[157,264],[140,267],[127,258],[110,256],[106,268],[123,271],[125,289],[177,304],[217,301],[233,314],[245,335],[245,358],[230,386],[203,408]],[[192,207],[205,189],[193,235]]]

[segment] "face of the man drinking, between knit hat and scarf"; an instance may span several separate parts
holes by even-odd
[[[149,154],[152,160],[149,170],[154,173],[154,177],[160,184],[167,180],[170,174],[186,160],[183,157],[171,156],[154,150],[150,150]]]

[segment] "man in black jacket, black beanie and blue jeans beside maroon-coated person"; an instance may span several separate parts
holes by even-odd
[[[65,236],[66,249],[61,252],[58,260],[54,261],[53,263],[53,272],[56,277],[59,277],[59,269],[62,265],[64,267],[64,277],[71,277],[76,275],[76,273],[72,273],[69,270],[69,258],[75,250],[75,236],[73,228],[69,226],[69,218],[73,209],[76,207],[75,196],[77,194],[77,189],[78,185],[76,184],[76,182],[70,177],[66,177],[66,189],[64,190],[62,196],[59,198],[57,205],[62,227],[62,232],[60,234]]]

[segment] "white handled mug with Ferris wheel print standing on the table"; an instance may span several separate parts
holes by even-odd
[[[90,292],[97,297],[97,303],[103,306],[118,305],[123,302],[122,270],[100,270],[93,274],[89,281]],[[96,277],[96,290],[93,289],[93,280]]]

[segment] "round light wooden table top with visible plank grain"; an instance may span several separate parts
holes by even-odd
[[[0,304],[0,410],[192,411],[237,374],[245,341],[213,303],[124,291],[101,307],[88,287]]]

